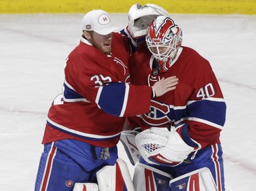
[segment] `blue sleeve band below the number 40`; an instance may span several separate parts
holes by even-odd
[[[226,104],[224,101],[201,100],[187,106],[190,118],[200,118],[214,124],[225,124]]]

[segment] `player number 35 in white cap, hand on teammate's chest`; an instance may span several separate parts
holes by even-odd
[[[103,10],[85,14],[80,44],[66,59],[63,94],[48,111],[35,190],[95,183],[96,172],[117,160],[124,117],[147,113],[152,97],[175,88],[175,77],[129,84],[130,47],[116,29]]]

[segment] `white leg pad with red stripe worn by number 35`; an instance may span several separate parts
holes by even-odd
[[[106,166],[96,173],[100,191],[134,191],[126,162],[117,159],[114,166]]]

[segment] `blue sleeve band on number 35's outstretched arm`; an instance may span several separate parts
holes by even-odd
[[[122,116],[126,109],[128,87],[125,83],[113,83],[102,87],[98,98],[100,109],[114,116]]]

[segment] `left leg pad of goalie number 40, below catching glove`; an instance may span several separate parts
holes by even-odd
[[[168,173],[138,163],[132,181],[136,191],[166,191],[171,178]]]

